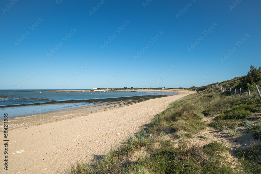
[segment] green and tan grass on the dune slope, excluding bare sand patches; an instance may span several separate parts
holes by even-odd
[[[156,116],[147,130],[128,137],[120,148],[111,149],[108,154],[89,163],[79,162],[64,173],[238,173],[227,160],[231,150],[222,142],[212,141],[200,147],[191,138],[207,126],[220,131],[228,129],[229,136],[235,136],[240,133],[238,119],[245,118],[240,125],[246,126],[256,134],[256,139],[260,139],[261,121],[252,123],[246,119],[260,110],[258,98],[249,100],[247,94],[231,97],[217,89],[207,88],[171,103],[168,109]],[[201,121],[208,116],[216,117],[210,124]],[[178,146],[162,137],[166,134],[176,135]],[[142,147],[145,147],[146,155],[130,160]],[[259,145],[236,153],[242,173],[260,171],[260,149]],[[251,165],[256,166],[251,168]]]

